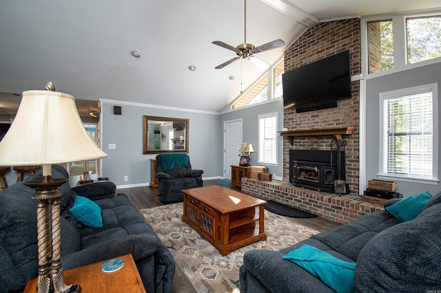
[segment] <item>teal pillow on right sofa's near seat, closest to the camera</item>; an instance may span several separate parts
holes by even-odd
[[[353,272],[356,269],[355,263],[342,261],[307,244],[292,250],[282,258],[304,268],[336,292],[355,292],[353,281]]]

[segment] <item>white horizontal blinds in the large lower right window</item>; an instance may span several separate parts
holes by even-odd
[[[432,92],[384,100],[385,173],[431,178],[433,175]]]

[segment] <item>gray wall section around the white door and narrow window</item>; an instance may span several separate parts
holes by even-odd
[[[257,105],[254,107],[247,107],[244,109],[238,109],[234,111],[229,111],[220,115],[220,129],[222,133],[220,134],[220,139],[223,142],[223,123],[229,120],[235,120],[242,118],[243,120],[243,141],[253,145],[254,155],[252,155],[251,164],[257,164],[258,160],[258,116],[260,114],[278,112],[278,125],[277,131],[282,131],[283,128],[283,100],[274,100],[271,102],[266,102],[262,105]],[[277,151],[277,161],[278,165],[261,165],[268,167],[268,173],[276,174],[283,179],[283,137],[278,136],[278,151]],[[274,177],[274,176],[273,176]]]

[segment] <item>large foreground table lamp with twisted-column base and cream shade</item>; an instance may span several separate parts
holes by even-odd
[[[53,179],[51,164],[105,158],[83,127],[75,98],[54,91],[24,91],[17,116],[0,142],[0,166],[43,165],[42,180],[24,182],[37,200],[38,292],[79,292],[65,285],[61,268],[60,197],[68,179]],[[50,89],[50,90],[49,90]]]

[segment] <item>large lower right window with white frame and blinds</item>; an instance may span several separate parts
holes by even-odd
[[[437,88],[380,94],[380,175],[427,180],[438,175]]]

